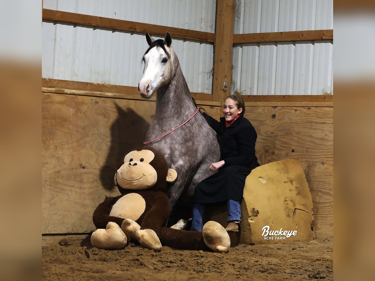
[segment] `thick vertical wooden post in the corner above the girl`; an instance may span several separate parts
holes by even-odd
[[[235,0],[216,1],[212,101],[223,102],[230,95]],[[227,91],[223,90],[223,82]]]

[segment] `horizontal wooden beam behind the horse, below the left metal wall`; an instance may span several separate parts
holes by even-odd
[[[116,99],[145,100],[137,87],[108,85],[81,81],[68,81],[42,78],[42,92],[58,94],[74,94],[78,96],[111,97]],[[211,94],[190,93],[195,100],[211,101]],[[156,100],[157,93],[150,99]],[[220,104],[218,105],[220,106]]]

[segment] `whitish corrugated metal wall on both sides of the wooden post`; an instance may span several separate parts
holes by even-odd
[[[44,0],[46,9],[214,33],[216,1]],[[237,0],[234,33],[333,28],[333,0]],[[43,22],[42,77],[136,87],[145,37]],[[156,38],[156,37],[155,37]],[[211,93],[213,45],[173,40],[189,89]],[[333,40],[239,44],[232,93],[333,93]]]

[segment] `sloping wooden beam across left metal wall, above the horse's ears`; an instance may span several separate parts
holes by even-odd
[[[215,39],[215,34],[209,32],[162,26],[156,24],[146,24],[134,21],[124,21],[121,19],[104,18],[102,16],[90,16],[79,13],[69,13],[50,9],[43,9],[42,19],[45,21],[57,21],[69,24],[88,25],[92,27],[110,28],[114,30],[123,30],[135,33],[146,33],[148,31],[151,35],[160,36],[165,36],[166,31],[168,31],[172,35],[172,37],[192,39],[208,43],[213,43]]]

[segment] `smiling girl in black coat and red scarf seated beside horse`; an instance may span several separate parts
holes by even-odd
[[[207,203],[226,201],[228,205],[228,226],[226,231],[239,231],[241,221],[241,200],[245,179],[252,169],[259,166],[255,156],[257,132],[243,117],[245,103],[239,96],[225,99],[224,117],[220,121],[207,115],[211,128],[219,136],[220,161],[212,163],[212,176],[201,181],[194,191],[193,219],[190,230],[202,231],[202,216]]]

